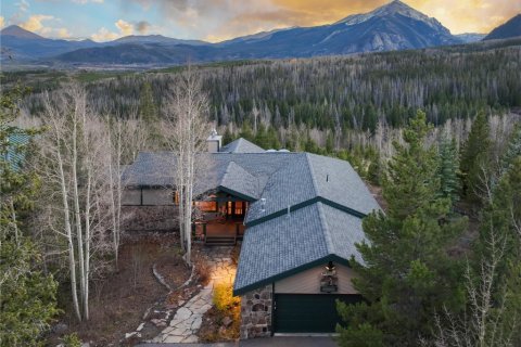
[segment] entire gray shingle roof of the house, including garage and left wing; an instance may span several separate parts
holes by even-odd
[[[220,187],[255,201],[245,218],[236,291],[326,256],[363,261],[355,247],[364,241],[361,218],[380,207],[350,163],[291,152],[201,155],[207,159],[196,193]],[[171,153],[140,153],[125,182],[171,184],[175,163]]]

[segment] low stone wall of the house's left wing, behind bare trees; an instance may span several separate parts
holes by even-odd
[[[176,231],[177,206],[122,206],[122,229],[126,232]]]

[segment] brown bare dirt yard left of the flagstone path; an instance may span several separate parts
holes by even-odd
[[[66,324],[67,329],[60,335],[51,335],[49,344],[56,345],[60,336],[76,332],[90,346],[118,346],[126,333],[136,331],[145,311],[165,301],[167,290],[152,273],[154,262],[160,261],[162,273],[167,274],[165,278],[173,285],[180,285],[189,279],[190,271],[182,265],[177,248],[177,237],[171,234],[127,237],[119,252],[118,271],[91,285],[88,322],[79,324],[71,313],[69,300],[66,300],[68,286],[63,286],[60,296],[66,304],[62,304],[65,313],[60,323]],[[152,309],[149,319],[153,317]],[[141,339],[152,338],[158,331],[161,327],[145,329],[141,332]]]

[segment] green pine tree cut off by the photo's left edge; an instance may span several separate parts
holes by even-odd
[[[26,144],[13,141],[36,133],[10,125],[21,94],[2,94],[0,103],[0,346],[36,345],[58,313],[56,283],[40,271],[41,257],[23,223],[39,182],[23,167]]]

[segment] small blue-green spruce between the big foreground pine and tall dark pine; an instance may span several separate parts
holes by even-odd
[[[439,146],[440,166],[439,178],[443,197],[453,202],[459,200],[461,183],[459,180],[459,158],[456,149],[456,141],[447,138],[442,139]]]

